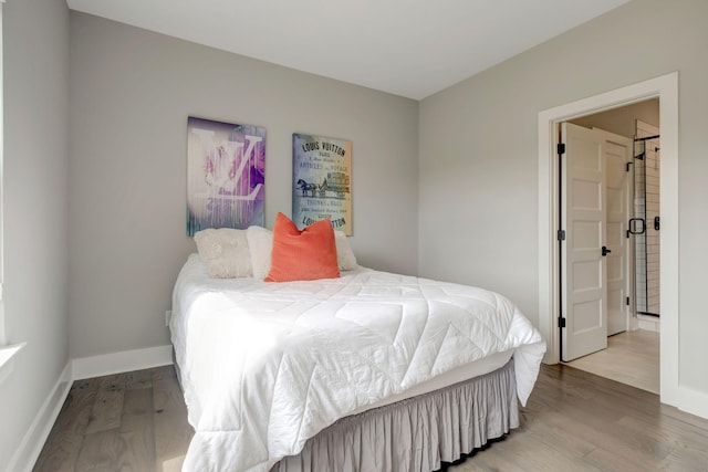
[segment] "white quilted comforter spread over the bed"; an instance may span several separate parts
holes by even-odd
[[[314,282],[214,280],[192,254],[173,303],[196,431],[187,471],[268,471],[348,412],[509,349],[525,403],[545,352],[499,294],[367,269]]]

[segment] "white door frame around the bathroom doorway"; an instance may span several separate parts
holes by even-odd
[[[558,124],[580,116],[659,98],[662,129],[660,400],[677,406],[681,400],[678,352],[678,72],[662,75],[600,95],[539,113],[539,329],[548,344],[545,364],[558,364],[560,343],[559,165]]]

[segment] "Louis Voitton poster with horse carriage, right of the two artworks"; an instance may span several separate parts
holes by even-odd
[[[352,235],[352,141],[293,133],[292,220],[299,229],[329,218]]]

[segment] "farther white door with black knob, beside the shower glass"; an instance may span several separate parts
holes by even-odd
[[[595,129],[595,128],[593,128]],[[607,220],[607,336],[628,329],[632,293],[632,251],[627,223],[633,204],[633,172],[627,162],[634,160],[633,141],[601,129],[604,139],[605,191]]]

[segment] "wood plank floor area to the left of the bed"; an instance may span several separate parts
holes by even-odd
[[[173,366],[77,380],[34,471],[179,471],[194,431]]]

